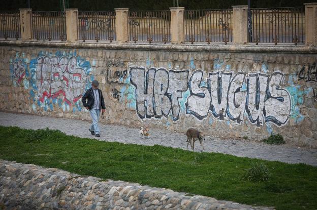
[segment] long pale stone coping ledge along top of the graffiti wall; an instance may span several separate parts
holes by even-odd
[[[82,48],[82,49],[109,49],[109,50],[148,50],[148,51],[178,51],[178,52],[230,52],[230,53],[304,53],[316,54],[317,47],[294,46],[294,44],[280,44],[278,46],[261,45],[235,45],[235,44],[116,44],[116,41],[110,43],[99,43],[86,41],[83,42],[64,42],[64,41],[35,41],[35,40],[0,40],[0,46],[18,46],[18,47],[49,47],[49,48]]]

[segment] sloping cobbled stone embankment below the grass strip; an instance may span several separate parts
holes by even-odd
[[[6,209],[272,209],[0,160]]]

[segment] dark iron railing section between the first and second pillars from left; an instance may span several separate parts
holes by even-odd
[[[66,40],[65,12],[32,12],[33,38],[37,40]]]

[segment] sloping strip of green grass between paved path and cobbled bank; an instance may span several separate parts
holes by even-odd
[[[185,138],[184,138],[185,139]],[[185,144],[185,141],[184,141]],[[0,158],[277,209],[317,209],[317,167],[0,127]],[[264,164],[269,180],[244,179]]]

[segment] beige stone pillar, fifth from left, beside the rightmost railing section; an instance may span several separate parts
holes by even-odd
[[[244,45],[248,42],[247,6],[232,6],[233,42]]]

